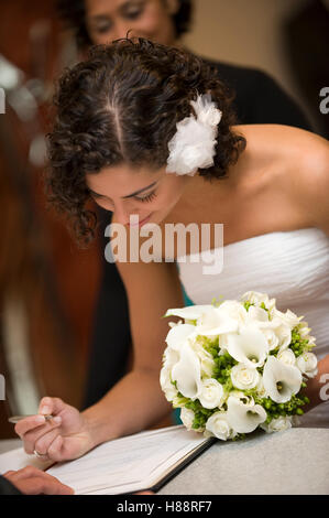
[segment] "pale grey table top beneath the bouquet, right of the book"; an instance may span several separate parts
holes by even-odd
[[[20,447],[0,441],[0,453]],[[160,489],[161,495],[328,495],[329,429],[293,428],[218,441]]]

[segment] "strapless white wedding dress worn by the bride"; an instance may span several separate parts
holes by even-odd
[[[194,256],[199,262],[191,261]],[[186,262],[177,262],[179,279],[194,304],[210,304],[215,296],[239,299],[246,291],[267,293],[278,310],[289,309],[308,322],[318,359],[329,354],[329,237],[322,230],[275,231],[227,245],[216,276],[202,273],[207,263],[198,253],[184,257]],[[329,428],[329,401],[299,422]]]

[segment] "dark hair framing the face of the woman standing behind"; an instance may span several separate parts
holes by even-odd
[[[73,29],[79,48],[92,45],[86,25],[85,0],[56,0],[57,11],[65,25]],[[193,1],[179,0],[179,9],[174,14],[173,22],[176,37],[189,31],[193,14]]]

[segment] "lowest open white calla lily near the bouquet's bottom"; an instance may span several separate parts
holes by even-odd
[[[245,404],[241,399],[230,396],[228,401],[228,421],[238,433],[253,432],[266,420],[267,413],[261,404]]]

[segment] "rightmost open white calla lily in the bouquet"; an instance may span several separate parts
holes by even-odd
[[[276,403],[289,401],[300,390],[301,374],[297,367],[286,365],[274,356],[270,356],[264,370],[263,384],[266,396]]]

